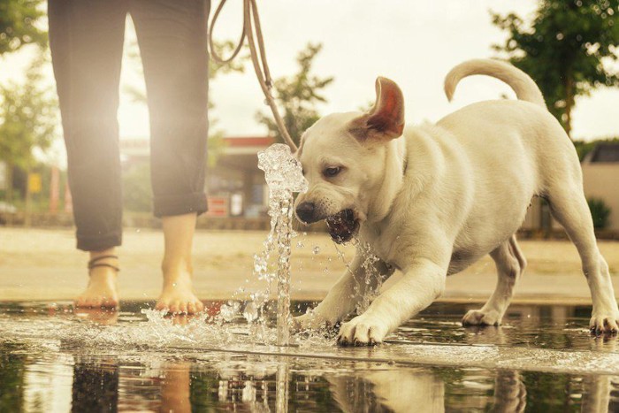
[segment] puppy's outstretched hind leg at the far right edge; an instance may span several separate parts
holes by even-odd
[[[619,309],[608,264],[600,254],[593,232],[591,211],[582,186],[563,185],[549,190],[547,200],[553,217],[574,242],[591,290],[593,310],[589,328],[595,333],[616,333]]]

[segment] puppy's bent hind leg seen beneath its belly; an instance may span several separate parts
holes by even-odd
[[[496,288],[481,310],[470,310],[462,317],[462,325],[500,325],[514,294],[514,286],[526,266],[526,260],[516,242],[516,235],[501,243],[490,256],[496,264]]]

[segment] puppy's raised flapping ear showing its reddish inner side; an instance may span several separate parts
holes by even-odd
[[[389,141],[404,130],[404,96],[394,80],[378,77],[376,103],[371,111],[355,119],[351,133],[360,141]]]

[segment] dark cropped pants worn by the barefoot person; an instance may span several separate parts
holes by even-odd
[[[157,217],[203,213],[210,0],[49,0],[78,249],[120,245],[118,83],[134,20],[149,102]]]

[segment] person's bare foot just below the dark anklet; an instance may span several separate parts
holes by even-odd
[[[88,287],[75,299],[76,308],[114,309],[118,307],[117,273],[112,268],[96,267],[90,271]]]

